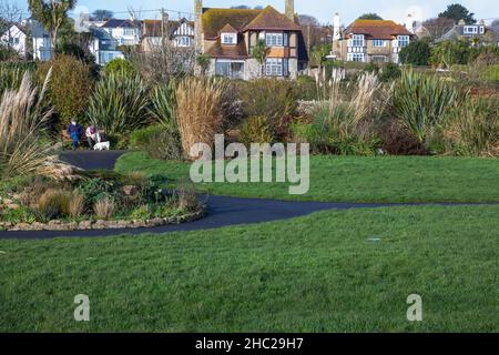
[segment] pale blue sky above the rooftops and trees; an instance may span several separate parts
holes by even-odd
[[[11,0],[12,1],[12,0]],[[24,0],[13,0],[24,10]],[[499,0],[295,0],[295,11],[299,14],[310,14],[323,23],[333,22],[333,16],[338,12],[342,23],[348,24],[357,17],[366,12],[376,12],[385,19],[405,22],[407,13],[411,13],[415,20],[425,20],[437,17],[444,11],[447,4],[459,2],[476,18],[490,20],[499,18]],[[245,4],[249,7],[271,4],[279,11],[284,11],[285,0],[204,0],[204,7],[228,8],[232,6]],[[194,0],[79,0],[75,12],[81,10],[92,12],[95,9],[108,9],[115,12],[115,17],[128,17],[129,7],[135,10],[143,10],[143,18],[159,18],[159,12],[147,12],[145,10],[165,8],[183,12],[182,17],[189,17],[194,12]],[[119,13],[123,12],[123,13]],[[170,13],[171,18],[176,18],[176,12]]]

